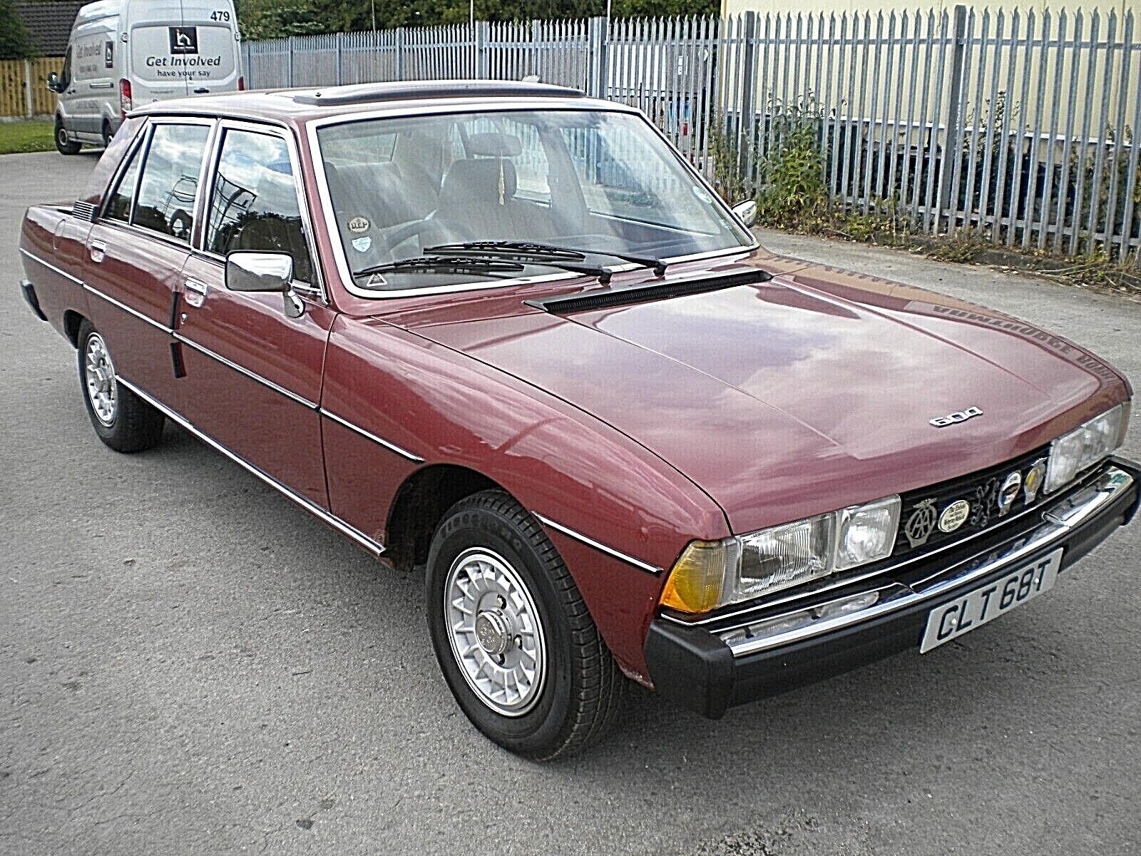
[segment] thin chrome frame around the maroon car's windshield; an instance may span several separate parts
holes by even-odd
[[[322,128],[332,124],[349,124],[353,122],[367,121],[371,119],[404,119],[408,116],[420,116],[420,115],[453,115],[458,113],[470,113],[474,110],[487,108],[487,98],[440,98],[434,100],[431,104],[413,104],[410,105],[404,103],[395,103],[394,106],[378,108],[374,111],[361,111],[361,112],[346,112],[339,115],[324,116],[322,119],[315,119],[307,123],[307,132],[309,135],[309,151],[313,156],[313,171],[317,180],[317,192],[319,194],[319,204],[324,210],[324,223],[325,228],[329,232],[329,242],[333,248],[333,258],[335,260],[337,272],[340,275],[341,284],[345,290],[350,294],[356,297],[362,297],[369,300],[386,300],[395,298],[405,297],[423,297],[429,294],[451,294],[462,291],[479,291],[486,289],[502,289],[510,288],[512,285],[526,285],[532,283],[541,282],[556,282],[558,280],[570,280],[578,278],[582,274],[576,273],[557,273],[557,274],[543,274],[540,276],[528,276],[517,280],[494,280],[492,282],[479,281],[469,283],[456,283],[454,285],[439,285],[430,289],[398,289],[393,291],[372,291],[370,289],[358,288],[353,281],[353,272],[349,268],[348,258],[345,255],[345,247],[340,241],[340,231],[337,227],[337,218],[333,213],[333,207],[331,202],[331,195],[329,192],[329,183],[325,177],[325,170],[323,168],[324,160],[321,155],[321,143],[317,139],[317,131]],[[525,111],[592,111],[592,112],[608,112],[608,113],[628,113],[630,115],[636,115],[641,118],[646,124],[648,124],[653,131],[666,144],[669,151],[677,159],[678,163],[682,165],[683,170],[687,170],[690,176],[693,176],[697,183],[704,187],[714,200],[714,204],[720,205],[729,216],[731,223],[739,225],[738,219],[734,216],[729,205],[718,196],[713,186],[705,180],[705,177],[701,175],[693,164],[689,163],[685,158],[681,158],[670,143],[669,138],[654,124],[646,114],[642,113],[637,107],[630,107],[624,104],[617,104],[613,102],[597,100],[591,98],[575,98],[560,100],[558,98],[495,98],[495,112],[502,113],[518,113]],[[747,231],[747,229],[746,229]],[[752,243],[742,244],[741,247],[731,247],[722,250],[711,250],[709,252],[697,252],[688,256],[674,256],[663,259],[666,264],[679,264],[683,261],[697,261],[706,258],[719,258],[723,256],[744,255],[756,250],[760,244],[754,239]],[[622,273],[625,270],[638,269],[639,265],[616,265],[610,269],[615,273]]]

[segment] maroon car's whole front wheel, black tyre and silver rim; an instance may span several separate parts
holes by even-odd
[[[426,603],[448,688],[499,745],[551,760],[613,724],[625,678],[555,546],[507,493],[474,494],[444,516]]]

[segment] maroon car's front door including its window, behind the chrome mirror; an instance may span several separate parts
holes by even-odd
[[[334,313],[321,299],[285,131],[224,123],[202,252],[183,269],[175,336],[180,410],[227,450],[327,508],[321,381]],[[300,317],[281,294],[226,289],[226,255],[288,253]]]

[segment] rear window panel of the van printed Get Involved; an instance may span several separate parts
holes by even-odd
[[[137,26],[131,72],[140,80],[222,80],[234,73],[234,31],[212,24]]]

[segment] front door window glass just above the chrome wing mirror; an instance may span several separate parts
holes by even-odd
[[[281,137],[227,130],[207,223],[205,249],[286,252],[293,278],[313,282],[289,147]]]

